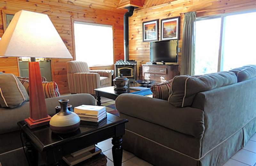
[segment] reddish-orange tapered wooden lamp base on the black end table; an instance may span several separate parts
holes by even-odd
[[[39,63],[29,62],[28,70],[30,117],[25,119],[25,123],[32,129],[49,124],[51,117],[46,110]]]

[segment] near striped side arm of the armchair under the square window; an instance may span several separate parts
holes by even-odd
[[[71,93],[94,94],[94,89],[100,88],[100,74],[98,73],[74,73],[67,76]]]

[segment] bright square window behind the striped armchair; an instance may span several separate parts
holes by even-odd
[[[76,60],[89,66],[114,64],[112,26],[74,22]]]

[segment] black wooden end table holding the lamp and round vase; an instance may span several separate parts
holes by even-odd
[[[49,125],[30,129],[24,126],[24,120],[18,122],[22,127],[25,136],[27,156],[30,165],[38,165],[38,152],[47,165],[60,162],[62,157],[85,147],[97,144],[109,138],[112,139],[112,155],[115,166],[122,165],[122,136],[124,134],[124,124],[127,119],[117,117],[107,113],[107,118],[99,125],[81,121],[80,128],[76,132],[69,134],[52,133]]]

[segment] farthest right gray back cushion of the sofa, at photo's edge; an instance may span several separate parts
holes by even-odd
[[[230,72],[234,72],[237,76],[237,82],[241,82],[256,77],[256,65],[246,65],[232,69]]]

